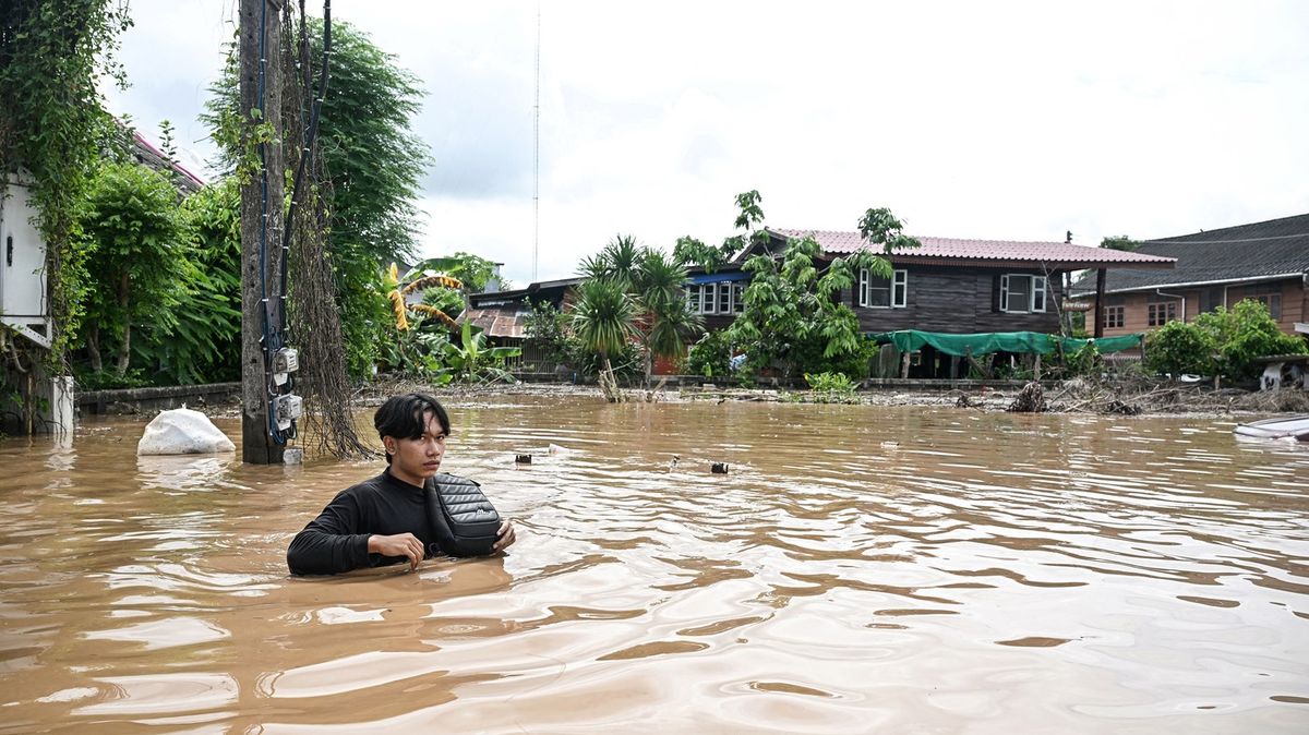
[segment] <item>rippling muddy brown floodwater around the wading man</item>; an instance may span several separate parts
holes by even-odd
[[[130,419],[0,442],[0,732],[1309,732],[1309,447],[1207,419],[450,409],[444,470],[520,540],[416,573],[287,574],[378,463],[137,459]]]

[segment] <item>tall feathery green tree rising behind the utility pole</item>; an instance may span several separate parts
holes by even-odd
[[[322,59],[322,21],[309,18],[312,76]],[[323,99],[318,146],[331,216],[329,252],[347,364],[368,374],[387,339],[386,293],[378,273],[386,263],[410,260],[418,243],[415,201],[431,165],[425,143],[412,131],[423,90],[411,72],[347,22],[332,22],[331,86]],[[237,56],[228,55],[202,118],[213,128],[226,166],[242,157]]]

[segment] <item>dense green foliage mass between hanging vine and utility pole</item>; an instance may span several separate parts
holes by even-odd
[[[241,238],[233,179],[185,201],[162,173],[106,161],[80,216],[88,264],[84,387],[240,377]],[[103,370],[101,353],[114,356]],[[136,369],[130,369],[136,365]]]

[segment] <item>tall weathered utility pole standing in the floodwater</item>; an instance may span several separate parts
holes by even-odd
[[[240,18],[241,119],[246,126],[267,123],[274,131],[263,146],[267,175],[255,171],[241,187],[241,459],[253,464],[280,464],[284,449],[268,433],[268,377],[260,341],[264,297],[271,305],[270,330],[278,327],[281,310],[281,4],[241,0]],[[255,109],[260,115],[251,118]]]

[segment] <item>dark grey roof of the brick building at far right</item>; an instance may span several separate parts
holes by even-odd
[[[1282,217],[1206,233],[1144,241],[1136,252],[1175,258],[1172,271],[1109,271],[1105,290],[1139,290],[1183,284],[1232,284],[1309,272],[1309,214]],[[1096,289],[1094,276],[1073,284]]]

